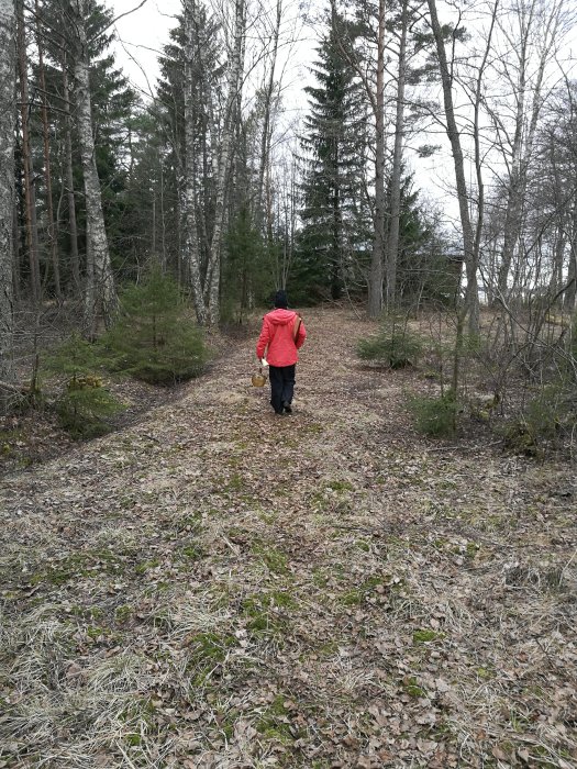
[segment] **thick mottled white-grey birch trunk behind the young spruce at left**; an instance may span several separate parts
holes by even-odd
[[[89,338],[97,332],[100,314],[111,325],[118,305],[114,277],[110,264],[107,231],[102,213],[100,179],[95,156],[92,114],[90,102],[90,59],[86,34],[87,0],[76,0],[77,51],[75,57],[76,108],[78,140],[82,159],[86,202],[87,285],[85,293],[85,331]]]

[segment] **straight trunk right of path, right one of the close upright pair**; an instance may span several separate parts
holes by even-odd
[[[397,79],[397,115],[395,120],[395,147],[390,192],[390,226],[387,243],[387,308],[397,298],[397,263],[399,259],[399,234],[401,220],[401,169],[402,142],[404,136],[404,83],[407,80],[407,27],[408,0],[402,0],[401,37],[399,41],[399,74]]]

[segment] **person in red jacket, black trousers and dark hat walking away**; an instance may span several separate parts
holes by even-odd
[[[263,317],[263,327],[256,345],[256,357],[268,363],[270,405],[276,414],[292,413],[292,393],[298,349],[304,344],[307,331],[298,313],[288,309],[285,291],[275,294],[275,309]]]

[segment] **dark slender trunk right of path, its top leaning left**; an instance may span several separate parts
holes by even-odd
[[[471,334],[479,331],[479,288],[477,283],[478,264],[475,258],[475,244],[473,226],[469,215],[469,196],[465,180],[465,161],[463,148],[461,146],[461,135],[455,120],[455,108],[453,104],[453,81],[448,68],[448,62],[443,41],[443,32],[439,23],[435,0],[428,0],[429,13],[431,15],[431,29],[435,38],[441,82],[443,86],[443,101],[445,107],[446,133],[451,143],[453,164],[455,169],[455,181],[457,186],[458,210],[461,214],[461,227],[463,231],[463,258],[467,277],[465,292],[465,313],[468,315],[468,326]]]

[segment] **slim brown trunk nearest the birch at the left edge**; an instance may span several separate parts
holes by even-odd
[[[24,170],[24,205],[26,216],[26,245],[30,263],[30,288],[32,300],[41,300],[42,287],[40,279],[38,229],[36,224],[36,196],[34,192],[32,152],[30,145],[30,99],[26,66],[26,30],[24,21],[24,3],[18,0],[18,63],[20,79],[20,116],[22,121],[22,166]]]

